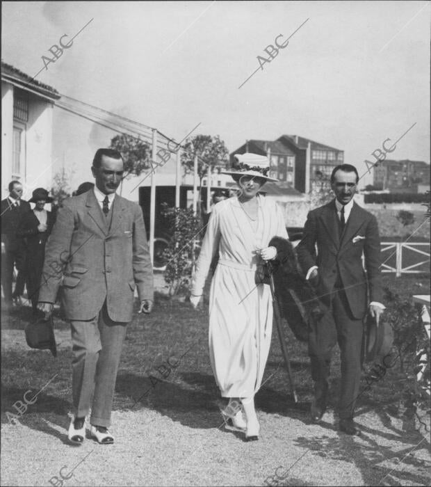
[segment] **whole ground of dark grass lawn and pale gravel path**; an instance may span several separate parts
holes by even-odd
[[[384,283],[406,298],[429,293],[425,277],[384,275]],[[261,440],[246,443],[222,428],[223,401],[209,362],[207,305],[195,311],[161,294],[154,312],[149,317],[135,313],[128,327],[113,405],[115,445],[101,447],[87,440],[77,449],[69,447],[70,328],[56,317],[58,357],[53,358],[49,351],[26,346],[22,330],[29,320],[28,310],[10,319],[2,316],[2,485],[50,485],[63,465],[78,464],[65,486],[262,485],[277,466],[287,469],[304,453],[301,467],[292,470],[284,485],[377,485],[386,474],[399,485],[430,484],[427,442],[399,468],[390,460],[404,457],[423,440],[414,418],[402,415],[407,385],[397,367],[359,399],[358,421],[366,440],[346,438],[334,426],[338,349],[329,412],[323,426],[311,425],[307,345],[286,331],[299,397],[294,404],[274,330],[256,401]],[[14,411],[15,401],[23,401],[26,390],[39,391],[51,378],[19,424],[9,424],[6,412]]]

